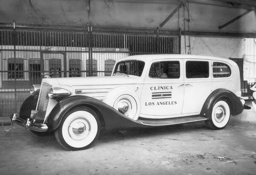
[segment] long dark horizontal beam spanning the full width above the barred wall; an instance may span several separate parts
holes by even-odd
[[[0,23],[0,29],[13,30],[12,23]],[[87,32],[87,27],[85,26],[61,26],[61,25],[29,25],[29,24],[18,24],[16,29],[23,30],[54,30],[54,31],[77,31],[77,32]],[[113,27],[113,26],[94,26],[94,32],[110,32],[118,34],[149,34],[156,35],[156,28],[127,28],[127,27]],[[179,30],[166,30],[159,29],[159,35],[167,36],[180,36],[180,35],[190,35],[190,36],[204,36],[204,37],[230,37],[230,38],[256,38],[254,33],[232,33],[232,32],[212,32],[212,31],[179,31]]]

